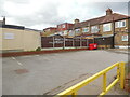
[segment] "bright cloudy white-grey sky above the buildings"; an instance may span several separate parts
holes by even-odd
[[[76,18],[83,22],[103,16],[108,8],[114,13],[128,15],[128,1],[0,0],[0,17],[5,16],[9,25],[42,30],[48,27],[56,27],[62,23],[74,23]]]

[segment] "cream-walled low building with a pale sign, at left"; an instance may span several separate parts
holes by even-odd
[[[40,31],[23,26],[1,25],[0,39],[0,51],[3,53],[36,51],[41,46]]]

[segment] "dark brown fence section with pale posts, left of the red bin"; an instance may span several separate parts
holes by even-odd
[[[93,43],[92,39],[63,38],[62,36],[41,38],[41,47],[87,47],[90,43]]]

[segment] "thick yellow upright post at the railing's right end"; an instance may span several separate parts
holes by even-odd
[[[120,88],[125,87],[125,63],[120,63]]]

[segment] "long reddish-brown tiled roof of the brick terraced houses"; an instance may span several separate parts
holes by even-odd
[[[112,15],[105,15],[105,16],[101,16],[98,18],[92,18],[89,20],[80,22],[78,24],[75,24],[74,28],[105,24],[105,23],[116,22],[116,20],[120,20],[120,19],[126,19],[129,17],[130,16],[127,16],[127,15],[113,13]]]

